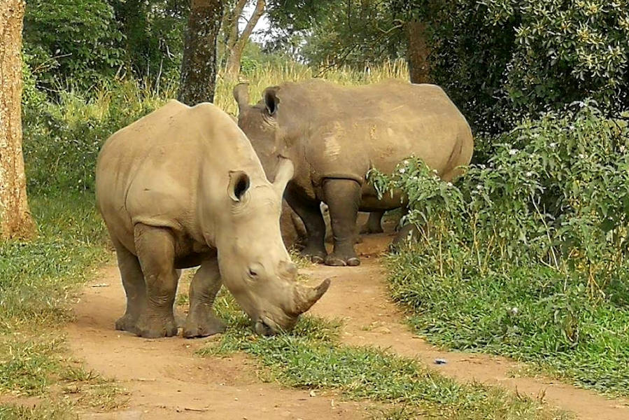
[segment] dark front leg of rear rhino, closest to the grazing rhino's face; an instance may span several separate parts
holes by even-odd
[[[321,214],[320,202],[306,201],[298,194],[292,193],[290,185],[285,194],[290,207],[302,219],[306,228],[306,241],[301,254],[312,262],[321,263],[325,260],[325,221]]]

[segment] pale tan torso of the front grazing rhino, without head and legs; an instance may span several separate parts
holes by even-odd
[[[204,241],[213,221],[199,220],[199,200],[220,211],[233,169],[246,171],[252,183],[264,177],[233,120],[212,104],[190,108],[171,101],[106,141],[97,164],[97,204],[112,236],[127,248],[135,223]]]

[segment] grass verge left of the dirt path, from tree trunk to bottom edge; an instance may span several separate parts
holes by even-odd
[[[35,408],[0,405],[2,419],[64,419],[67,405],[111,408],[115,384],[71,360],[62,325],[69,303],[109,255],[93,195],[35,195],[38,236],[0,244],[0,395],[34,396]]]

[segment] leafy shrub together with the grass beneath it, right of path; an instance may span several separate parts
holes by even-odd
[[[404,190],[422,228],[390,260],[416,328],[627,395],[628,142],[626,122],[577,104],[495,137],[458,186],[416,159],[372,174]]]

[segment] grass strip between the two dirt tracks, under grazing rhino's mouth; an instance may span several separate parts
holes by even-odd
[[[544,407],[539,400],[500,388],[458,384],[416,360],[371,347],[340,344],[337,321],[303,316],[290,333],[260,337],[253,335],[248,319],[231,297],[221,295],[217,308],[229,328],[218,342],[202,349],[202,354],[221,356],[243,351],[282,384],[330,389],[351,399],[395,403],[397,408],[376,418],[400,418],[400,413],[465,420],[569,418],[568,414]]]

